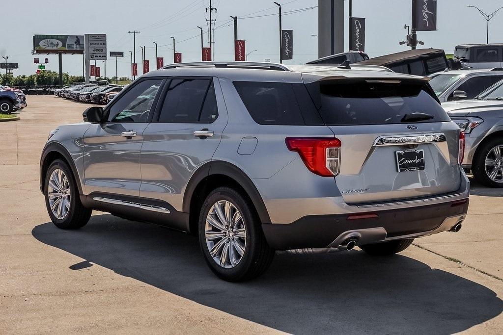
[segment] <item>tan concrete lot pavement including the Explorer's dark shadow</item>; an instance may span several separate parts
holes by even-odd
[[[233,284],[204,264],[197,239],[95,212],[56,229],[39,191],[47,134],[87,105],[29,97],[0,124],[0,333],[500,332],[503,190],[473,185],[457,233],[401,254],[277,255],[258,280]]]

